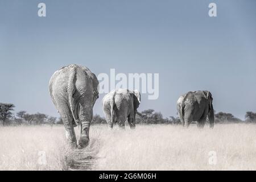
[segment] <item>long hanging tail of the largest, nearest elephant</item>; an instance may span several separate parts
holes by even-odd
[[[73,97],[73,94],[76,92],[75,88],[75,83],[76,83],[76,68],[72,67],[71,69],[71,75],[68,78],[68,101],[69,101],[69,106],[71,109],[71,113],[73,115],[73,125],[78,125],[79,119],[77,115],[77,105],[75,102],[75,98]]]

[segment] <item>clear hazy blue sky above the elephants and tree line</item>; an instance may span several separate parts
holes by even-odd
[[[38,4],[46,4],[46,17]],[[208,15],[209,3],[217,17]],[[59,117],[48,82],[68,64],[95,75],[159,73],[159,98],[138,111],[176,114],[185,92],[210,90],[216,112],[256,112],[254,0],[0,0],[0,102]],[[101,100],[94,114],[104,115]]]

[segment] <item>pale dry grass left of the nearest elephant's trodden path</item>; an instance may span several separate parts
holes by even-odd
[[[67,147],[63,128],[44,126],[1,127],[1,170],[54,170],[64,167]],[[40,165],[40,154],[46,152],[46,165]]]

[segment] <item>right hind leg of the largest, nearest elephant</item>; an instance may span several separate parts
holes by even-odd
[[[81,122],[81,134],[79,139],[79,148],[84,148],[89,144],[89,129],[90,122],[92,121],[93,112],[92,109],[81,109],[79,114],[79,120]]]

